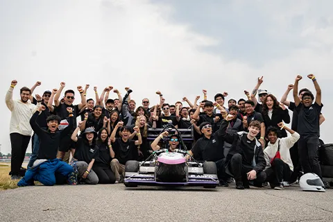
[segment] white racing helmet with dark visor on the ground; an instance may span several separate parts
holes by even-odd
[[[323,181],[315,173],[305,173],[300,177],[300,189],[302,191],[325,192]]]

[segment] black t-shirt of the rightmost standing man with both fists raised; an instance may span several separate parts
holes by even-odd
[[[298,104],[298,133],[300,135],[319,135],[319,115],[323,104],[314,103],[305,107],[303,103]]]

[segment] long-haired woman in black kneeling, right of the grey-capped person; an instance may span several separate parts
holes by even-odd
[[[117,111],[116,111],[117,112]],[[99,155],[97,155],[92,169],[99,178],[100,184],[113,184],[116,182],[116,177],[110,167],[111,156],[114,156],[112,149],[110,148],[110,139],[108,138],[108,130],[101,128],[98,133],[96,141],[99,147]]]

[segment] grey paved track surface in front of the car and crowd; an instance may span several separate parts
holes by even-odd
[[[333,221],[332,189],[233,187],[23,187],[0,191],[0,221]]]

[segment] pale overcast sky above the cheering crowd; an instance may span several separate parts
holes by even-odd
[[[318,0],[0,1],[1,152],[10,152],[4,98],[12,79],[15,99],[37,80],[39,94],[65,81],[67,89],[112,85],[123,94],[130,86],[137,103],[148,97],[153,105],[157,89],[169,103],[193,101],[202,89],[209,99],[223,91],[239,99],[258,76],[280,99],[297,74],[314,73],[323,89],[321,135],[333,142],[332,8]],[[300,87],[314,91],[307,78]]]

